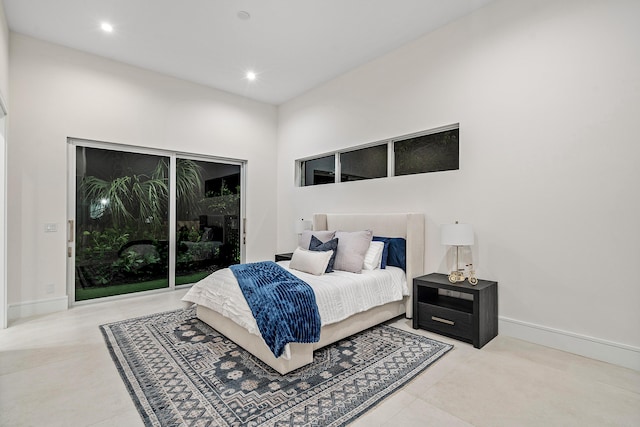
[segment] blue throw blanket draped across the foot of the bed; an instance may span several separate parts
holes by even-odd
[[[311,286],[272,261],[229,268],[274,356],[280,357],[287,343],[320,340],[320,313]]]

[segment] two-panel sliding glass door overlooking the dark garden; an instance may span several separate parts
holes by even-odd
[[[241,261],[242,163],[70,142],[73,301],[194,283]]]

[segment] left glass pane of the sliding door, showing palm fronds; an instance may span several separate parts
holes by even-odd
[[[76,301],[169,286],[168,164],[76,147]]]

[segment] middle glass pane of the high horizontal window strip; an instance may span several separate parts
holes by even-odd
[[[340,179],[342,182],[386,176],[386,144],[340,154]]]

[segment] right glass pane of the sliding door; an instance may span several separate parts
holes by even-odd
[[[240,166],[177,159],[176,285],[240,262]]]

